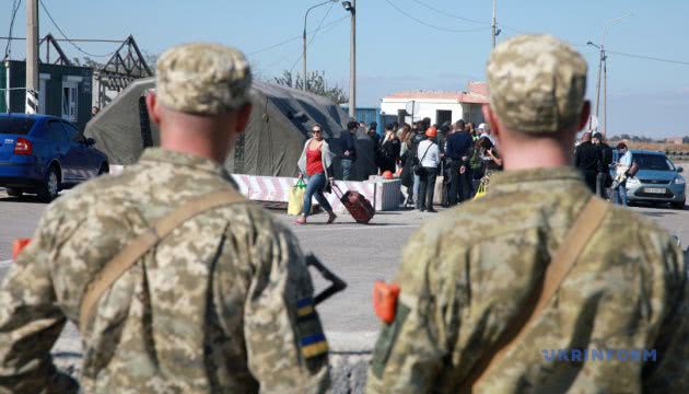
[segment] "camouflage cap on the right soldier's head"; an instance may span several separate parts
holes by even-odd
[[[490,105],[511,130],[556,132],[579,121],[586,60],[549,35],[523,35],[498,46],[487,67]]]

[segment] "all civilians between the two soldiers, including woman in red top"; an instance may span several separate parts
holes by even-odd
[[[348,132],[342,134],[340,141],[340,162],[342,179],[351,181],[357,161],[355,132],[360,124],[352,120],[347,128]],[[486,124],[475,127],[471,123],[458,120],[453,125],[431,126],[431,120],[424,118],[401,127],[397,123],[388,124],[384,136],[379,136],[376,128],[375,123],[371,124],[366,134],[374,147],[378,173],[399,173],[407,188],[405,206],[416,207],[420,211],[436,212],[433,200],[439,176],[443,176],[442,205],[453,207],[471,199],[478,185],[486,185],[490,174],[502,167],[502,160]],[[304,209],[295,220],[296,224],[306,223],[312,198],[316,198],[328,212],[328,223],[336,219],[325,197],[332,182],[334,157],[323,138],[322,126],[314,125],[312,138],[304,144],[299,160],[300,177],[305,177],[307,184]]]

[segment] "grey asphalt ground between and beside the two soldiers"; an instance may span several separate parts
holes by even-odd
[[[4,277],[9,266],[12,240],[31,236],[45,207],[32,199],[17,201],[0,192],[0,223],[3,224],[0,227],[0,278]],[[652,218],[676,234],[684,247],[689,245],[689,210],[657,207],[631,209]],[[443,215],[442,210],[436,215]],[[280,212],[276,212],[276,216],[287,223],[293,219]],[[323,224],[326,217],[319,215],[313,218],[312,225],[292,227],[304,251],[316,254],[349,285],[346,292],[318,308],[331,337],[359,338],[363,343],[374,338],[378,323],[371,306],[373,281],[394,277],[406,240],[422,222],[434,217],[417,211],[379,212],[373,224],[361,225],[349,216],[341,216],[336,224],[326,227]],[[323,289],[325,282],[317,278],[317,273],[313,275],[316,288]],[[78,341],[78,334],[73,327],[69,327],[56,345],[56,350],[75,351]]]

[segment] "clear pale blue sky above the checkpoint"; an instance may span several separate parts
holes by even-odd
[[[220,42],[253,54],[256,74],[271,79],[292,67],[301,71],[304,12],[323,0],[43,1],[70,37],[124,39],[133,34],[150,53],[185,42]],[[0,3],[3,36],[11,7],[12,0]],[[378,105],[381,97],[400,90],[457,91],[469,80],[484,80],[491,12],[491,0],[359,0],[358,106]],[[608,50],[689,62],[687,0],[498,0],[499,42],[518,33],[567,39],[588,60],[587,94],[594,101],[598,51],[586,42],[599,43],[606,23],[630,12],[609,25]],[[350,24],[344,16],[339,2],[312,11],[310,31],[324,22],[307,54],[310,70],[325,71],[331,83],[348,89]],[[25,35],[22,5],[15,36]],[[42,12],[40,34],[48,32],[59,36]],[[0,44],[4,49],[5,43]],[[116,49],[112,44],[82,46],[96,55]],[[71,57],[83,56],[67,43],[62,47]],[[24,43],[15,42],[13,58],[23,54]],[[624,132],[689,136],[689,65],[608,54],[608,134]]]

